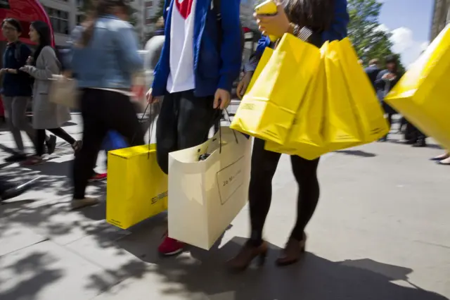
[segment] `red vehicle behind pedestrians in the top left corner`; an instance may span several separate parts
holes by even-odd
[[[20,40],[34,48],[33,43],[28,36],[28,28],[33,21],[41,20],[49,24],[51,28],[50,18],[44,7],[41,6],[39,0],[0,0],[0,20],[5,18],[15,18],[22,25],[23,32]],[[52,45],[54,46],[53,29],[51,29]],[[0,54],[3,58],[6,49],[6,39],[0,35]],[[0,59],[0,68],[3,68],[3,59]],[[1,83],[0,83],[1,85]],[[0,116],[4,116],[3,104],[0,101]]]

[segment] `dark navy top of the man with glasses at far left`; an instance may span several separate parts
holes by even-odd
[[[20,49],[16,52],[16,47]],[[19,55],[17,55],[19,54]],[[27,63],[31,50],[25,44],[8,44],[3,55],[3,68],[18,70]],[[4,96],[31,96],[32,78],[25,72],[18,71],[18,74],[5,73],[3,75],[3,88],[1,94]]]

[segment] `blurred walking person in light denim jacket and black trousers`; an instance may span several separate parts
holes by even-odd
[[[71,69],[81,90],[84,121],[83,146],[74,162],[74,209],[98,203],[84,193],[108,131],[120,133],[131,146],[144,144],[143,127],[130,101],[132,76],[143,70],[143,60],[127,22],[128,2],[96,1],[94,15],[74,42]]]

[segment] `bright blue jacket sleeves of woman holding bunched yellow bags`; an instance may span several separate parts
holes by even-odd
[[[347,37],[347,25],[349,23],[349,13],[347,11],[347,0],[335,0],[335,16],[330,29],[322,32],[322,44],[326,41],[333,42]],[[264,49],[270,45],[269,37],[262,36],[259,39],[255,56],[262,56]]]

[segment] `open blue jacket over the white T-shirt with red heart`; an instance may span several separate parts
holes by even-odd
[[[160,61],[155,68],[153,95],[167,93],[167,78],[170,74],[170,30],[174,1],[165,0],[165,44]],[[169,2],[170,1],[170,4]],[[194,24],[194,74],[195,96],[212,96],[219,89],[231,91],[233,82],[240,73],[241,27],[239,18],[240,0],[221,1],[221,44],[217,15],[212,9],[212,0],[197,0]],[[226,4],[225,4],[226,3]]]

